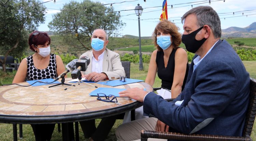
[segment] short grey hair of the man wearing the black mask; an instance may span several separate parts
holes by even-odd
[[[212,29],[215,39],[221,37],[221,20],[219,19],[217,12],[212,7],[198,6],[192,8],[182,16],[181,22],[183,23],[185,18],[190,14],[196,15],[198,27],[208,25]]]

